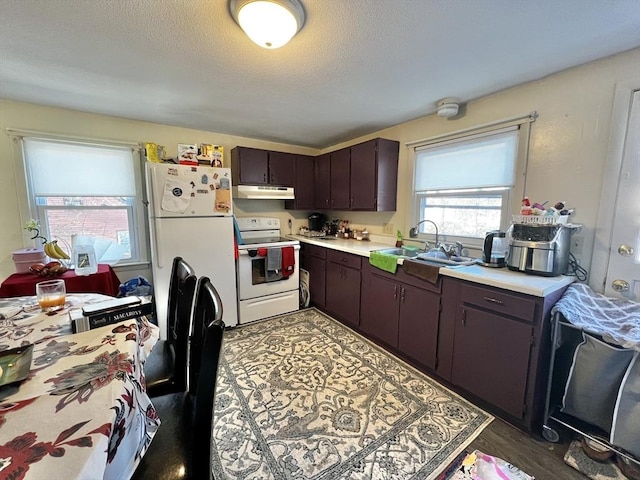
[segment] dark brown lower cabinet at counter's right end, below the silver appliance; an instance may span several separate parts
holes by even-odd
[[[445,277],[436,375],[540,433],[550,312],[565,289],[537,297]]]

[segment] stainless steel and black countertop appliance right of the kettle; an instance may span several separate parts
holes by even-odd
[[[555,277],[569,266],[571,234],[580,225],[514,223],[509,245],[509,270]]]

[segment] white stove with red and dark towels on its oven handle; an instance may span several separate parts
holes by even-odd
[[[298,310],[300,242],[282,238],[280,219],[237,218],[239,323]]]

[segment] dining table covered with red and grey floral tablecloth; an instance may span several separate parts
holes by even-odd
[[[27,378],[0,386],[0,480],[128,479],[160,425],[144,362],[158,340],[147,317],[73,333],[69,312],[112,297],[0,298],[0,355],[33,345]]]

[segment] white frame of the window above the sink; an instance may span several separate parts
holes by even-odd
[[[415,191],[415,180],[416,180],[416,149],[426,147],[429,145],[437,145],[443,144],[445,142],[457,141],[461,140],[464,137],[470,137],[475,135],[483,135],[487,133],[497,132],[501,129],[505,129],[512,126],[517,126],[519,129],[519,138],[518,138],[518,146],[517,146],[517,155],[516,155],[516,164],[515,164],[515,185],[512,188],[504,191],[503,193],[503,208],[501,213],[501,222],[500,229],[506,230],[511,223],[511,218],[513,213],[519,212],[520,204],[522,198],[526,196],[526,173],[527,173],[527,163],[528,163],[528,155],[529,155],[529,142],[531,135],[531,124],[535,122],[538,117],[538,113],[533,111],[527,115],[520,115],[516,117],[511,117],[504,120],[499,120],[496,122],[488,123],[485,125],[481,125],[478,127],[473,127],[470,129],[458,130],[452,133],[438,135],[435,137],[430,137],[426,139],[416,140],[412,142],[406,143],[407,148],[409,148],[409,167],[412,173],[411,178],[411,188],[409,189],[409,200],[408,205],[410,206],[410,212],[407,217],[409,224],[406,225],[406,231],[408,232],[411,227],[414,227],[420,218],[420,208],[421,208],[421,199],[422,193],[417,194]],[[458,189],[459,192],[461,189]],[[446,191],[443,190],[441,192],[445,192],[447,195],[449,193],[453,194],[454,191]],[[472,196],[472,194],[470,194]],[[424,223],[421,227],[424,226],[425,233],[419,233],[418,237],[414,240],[420,242],[429,242],[433,245],[435,241],[435,232],[433,226],[429,223]],[[438,232],[438,241],[446,242],[446,243],[454,243],[456,241],[461,242],[465,247],[473,248],[473,249],[481,249],[483,244],[483,238],[476,237],[464,237],[464,236],[456,236],[456,235],[447,235],[444,232]],[[408,237],[408,236],[407,236]],[[407,238],[411,240],[410,238]]]

